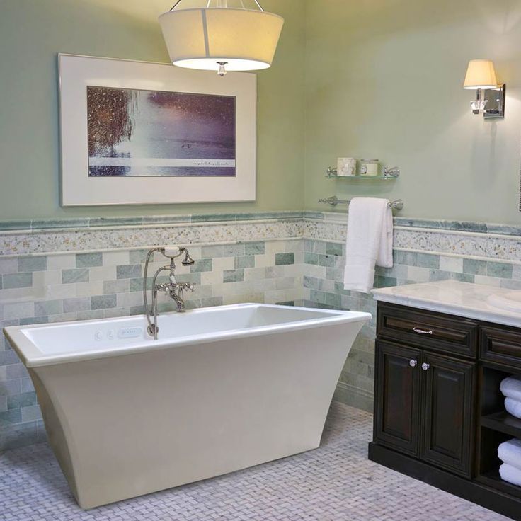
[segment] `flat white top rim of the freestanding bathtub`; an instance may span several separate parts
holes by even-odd
[[[172,349],[187,345],[215,343],[222,340],[231,340],[236,338],[248,338],[253,336],[273,335],[275,333],[285,333],[290,331],[299,331],[302,329],[316,328],[319,326],[329,326],[335,324],[348,324],[350,322],[370,321],[372,315],[365,311],[343,311],[336,309],[318,309],[309,307],[289,307],[280,304],[260,304],[256,302],[246,302],[241,304],[227,304],[225,306],[214,306],[190,309],[187,314],[207,313],[214,310],[225,311],[227,309],[238,309],[244,307],[253,308],[271,308],[271,309],[292,309],[296,311],[315,311],[321,315],[319,318],[296,320],[283,322],[282,324],[268,324],[265,326],[256,326],[252,328],[229,329],[219,331],[217,333],[202,333],[190,336],[182,336],[180,338],[165,338],[159,340],[144,340],[138,343],[132,343],[120,348],[108,350],[106,348],[99,350],[77,351],[71,353],[60,353],[59,355],[42,353],[38,346],[33,343],[24,331],[38,328],[58,328],[63,326],[71,326],[74,323],[81,324],[105,324],[109,322],[131,321],[135,319],[145,319],[144,314],[112,317],[108,319],[91,319],[81,321],[57,322],[51,324],[30,324],[24,326],[8,326],[4,328],[4,335],[11,343],[13,350],[21,358],[25,367],[44,367],[52,365],[61,365],[73,362],[84,362],[88,360],[101,360],[103,358],[134,355],[137,353],[147,353],[149,351]],[[161,316],[176,316],[176,311],[161,314]]]

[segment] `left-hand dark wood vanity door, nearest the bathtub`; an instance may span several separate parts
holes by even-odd
[[[374,439],[419,454],[421,352],[377,341]]]

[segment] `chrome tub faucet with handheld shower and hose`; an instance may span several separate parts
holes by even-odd
[[[154,277],[152,278],[152,307],[149,309],[148,301],[147,301],[147,279],[148,279],[148,270],[149,270],[149,262],[151,256],[155,252],[162,253],[166,258],[170,259],[170,264],[161,266],[159,270],[154,273]],[[147,253],[147,260],[144,263],[144,274],[143,274],[143,302],[145,314],[147,314],[147,332],[150,336],[154,337],[154,340],[157,340],[157,333],[159,332],[159,327],[157,326],[157,294],[159,292],[164,292],[164,294],[168,295],[174,302],[176,302],[178,313],[184,313],[186,311],[185,301],[183,299],[183,292],[193,291],[194,284],[192,282],[178,282],[176,277],[176,262],[175,259],[181,256],[185,256],[183,260],[181,260],[181,264],[183,266],[190,266],[195,263],[195,260],[190,257],[190,253],[186,248],[180,248],[179,246],[164,246],[161,248],[152,248],[149,253]],[[168,277],[168,282],[163,282],[158,284],[157,277],[163,271],[169,271],[170,275]]]

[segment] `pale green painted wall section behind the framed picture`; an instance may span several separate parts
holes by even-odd
[[[286,23],[273,67],[258,74],[256,202],[59,207],[57,53],[168,62],[157,16],[171,4],[173,0],[0,0],[0,220],[302,209],[301,0],[263,2]]]

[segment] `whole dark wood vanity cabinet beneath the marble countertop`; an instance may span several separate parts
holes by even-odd
[[[500,442],[521,438],[501,380],[521,374],[521,328],[379,302],[369,458],[521,521]]]

